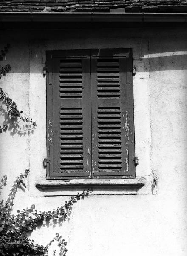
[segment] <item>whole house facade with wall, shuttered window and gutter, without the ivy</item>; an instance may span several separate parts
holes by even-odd
[[[37,124],[2,108],[3,197],[27,168],[15,211],[92,188],[69,221],[31,233],[45,245],[59,232],[67,256],[185,256],[187,4],[35,2],[0,3],[0,87]]]

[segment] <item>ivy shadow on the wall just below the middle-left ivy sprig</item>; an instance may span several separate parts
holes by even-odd
[[[21,119],[17,117],[8,116],[8,111],[5,105],[0,107],[0,117],[3,121],[1,125],[7,125],[7,129],[4,130],[4,132],[10,131],[11,136],[14,136],[15,134],[25,136],[26,134],[34,133],[33,125],[27,123],[25,124]]]

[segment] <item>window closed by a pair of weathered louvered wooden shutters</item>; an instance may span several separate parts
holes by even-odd
[[[131,49],[47,51],[48,179],[135,178]]]

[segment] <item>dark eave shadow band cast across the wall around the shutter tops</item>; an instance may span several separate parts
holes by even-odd
[[[43,55],[38,49],[43,46],[46,50],[68,50],[68,49],[99,49],[99,48],[132,48],[132,41],[141,42],[142,39],[149,41],[149,47],[144,52],[139,51],[135,59],[149,59],[150,69],[147,72],[184,70],[187,69],[187,46],[184,29],[61,29],[47,31],[17,30],[17,36],[5,35],[11,43],[11,48],[6,56],[5,64],[11,64],[11,73],[43,73],[42,68],[29,68],[29,58],[34,60],[40,58],[45,63]],[[85,33],[86,32],[86,33]],[[136,37],[135,37],[136,32]],[[8,32],[7,32],[8,33]],[[46,36],[49,35],[50,36]],[[24,38],[23,38],[24,35]],[[181,38],[181,36],[183,36]],[[36,39],[38,38],[38,39]],[[109,40],[110,39],[110,40]],[[110,43],[109,43],[110,42]],[[124,43],[125,42],[125,43]],[[15,48],[14,48],[15,47]],[[27,48],[27,49],[26,49]],[[135,49],[133,49],[133,54]],[[137,53],[137,52],[136,52]],[[146,70],[138,70],[146,72]]]

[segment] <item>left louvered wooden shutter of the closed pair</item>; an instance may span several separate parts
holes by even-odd
[[[91,177],[89,51],[53,51],[48,79],[49,178]],[[48,67],[50,69],[50,67]],[[51,79],[51,85],[50,85]],[[49,95],[49,93],[52,94]],[[50,119],[51,118],[51,119]]]

